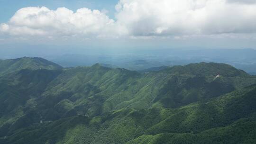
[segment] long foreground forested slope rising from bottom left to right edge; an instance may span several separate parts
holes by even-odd
[[[74,116],[18,130],[8,144],[252,144],[256,86],[181,108],[121,109]],[[39,139],[38,139],[39,137]],[[22,139],[20,139],[22,138]]]

